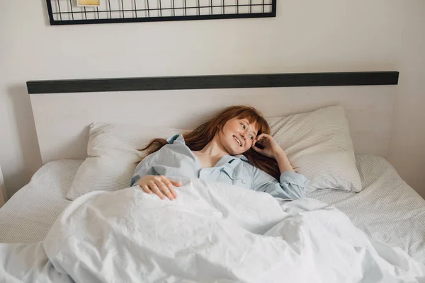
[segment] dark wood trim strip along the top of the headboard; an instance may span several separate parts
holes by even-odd
[[[398,71],[345,73],[247,74],[169,76],[124,79],[27,81],[28,93],[86,93],[97,91],[159,91],[203,88],[277,88],[293,86],[396,85]]]

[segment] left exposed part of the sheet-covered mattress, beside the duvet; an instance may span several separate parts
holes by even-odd
[[[52,161],[0,209],[0,243],[42,241],[70,203],[67,190],[83,160]]]

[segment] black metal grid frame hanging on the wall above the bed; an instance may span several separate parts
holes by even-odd
[[[55,1],[57,3],[58,11],[54,12],[52,9],[52,2]],[[225,4],[226,0],[221,0],[221,5],[213,5],[212,0],[210,1],[210,6],[200,6],[200,1],[198,0],[198,6],[189,7],[186,6],[186,1],[184,1],[184,16],[176,16],[176,8],[163,8],[161,7],[162,0],[153,0],[159,2],[159,8],[149,8],[149,1],[152,0],[145,0],[147,3],[147,8],[137,8],[137,1],[141,0],[132,0],[134,3],[134,6],[136,8],[124,8],[123,0],[121,1],[121,8],[118,10],[112,10],[111,9],[111,0],[103,0],[106,1],[108,4],[108,9],[106,10],[99,10],[96,8],[96,11],[94,12],[97,14],[98,18],[89,19],[87,18],[86,8],[83,8],[83,11],[73,11],[72,6],[75,0],[67,0],[69,1],[69,4],[71,6],[71,11],[61,11],[60,8],[60,1],[61,0],[47,0],[47,11],[50,18],[50,25],[79,25],[79,24],[94,24],[94,23],[135,23],[135,22],[154,22],[154,21],[194,21],[194,20],[215,20],[215,19],[226,19],[226,18],[271,18],[276,17],[276,4],[277,0],[271,0],[271,4],[266,4],[265,0],[260,0],[261,3],[253,3],[253,0],[249,0],[249,4],[239,4],[239,0],[236,1],[237,4],[233,5],[227,5]],[[63,1],[63,0],[62,0]],[[241,0],[242,1],[242,0]],[[256,1],[258,2],[258,1]],[[270,1],[268,1],[269,3]],[[174,0],[172,1],[174,4]],[[266,6],[271,6],[271,11],[266,11]],[[225,7],[234,7],[237,10],[237,13],[225,13]],[[239,13],[239,8],[242,7],[248,7],[249,13]],[[253,7],[262,7],[261,12],[253,12]],[[193,9],[198,8],[198,15],[189,16],[187,15],[187,9]],[[210,8],[211,13],[208,15],[200,15],[200,8]],[[222,8],[222,13],[213,13],[213,8]],[[180,8],[181,9],[181,8]],[[173,11],[173,16],[162,16],[162,11],[171,10]],[[159,16],[150,16],[150,12],[157,11],[159,12]],[[112,13],[122,13],[122,18],[113,18]],[[127,12],[134,12],[135,17],[125,18],[125,13]],[[147,16],[145,17],[138,17],[137,12],[145,12],[147,13]],[[62,20],[62,15],[64,14],[71,14],[70,20]],[[83,14],[85,17],[83,19],[74,19],[74,14]],[[93,13],[93,12],[92,12]],[[109,13],[110,18],[100,18],[100,13]],[[55,19],[54,15],[58,15],[57,19]]]

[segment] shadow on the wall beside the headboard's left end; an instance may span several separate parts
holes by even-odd
[[[26,185],[35,171],[40,168],[41,156],[38,146],[37,132],[31,108],[30,96],[26,84],[18,84],[7,87],[8,96],[11,99],[12,112],[14,115],[15,128],[19,149],[16,151],[21,156],[16,156],[17,168],[13,173],[4,176],[7,197],[10,198],[21,187]]]

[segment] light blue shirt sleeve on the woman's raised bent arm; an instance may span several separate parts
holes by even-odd
[[[297,200],[305,195],[305,188],[310,181],[304,175],[286,171],[280,174],[276,180],[268,173],[254,167],[252,189],[259,192],[267,192],[273,197]]]

